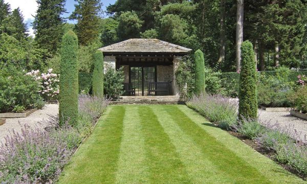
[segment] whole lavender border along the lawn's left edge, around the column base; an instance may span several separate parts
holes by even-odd
[[[0,181],[3,183],[54,183],[75,148],[91,132],[109,99],[79,97],[77,126],[59,126],[58,117],[50,117],[50,127],[21,133],[12,131],[0,145]]]

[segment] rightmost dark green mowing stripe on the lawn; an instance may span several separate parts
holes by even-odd
[[[216,167],[228,173],[228,177],[237,183],[271,183],[257,169],[248,165],[215,137],[196,125],[177,106],[163,106],[163,109],[170,114],[183,131],[192,137]]]

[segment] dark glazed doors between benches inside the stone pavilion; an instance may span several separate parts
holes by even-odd
[[[136,90],[136,96],[147,96],[149,82],[157,82],[155,66],[130,66],[129,83]]]

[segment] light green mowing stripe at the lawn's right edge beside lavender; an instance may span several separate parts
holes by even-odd
[[[277,165],[273,160],[261,155],[236,137],[230,135],[227,131],[207,122],[204,117],[194,110],[185,105],[178,105],[177,107],[188,118],[193,120],[196,125],[205,130],[211,136],[215,137],[215,139],[222,143],[227,149],[234,152],[250,166],[256,168],[272,183],[306,183],[306,181],[303,181],[301,178]]]

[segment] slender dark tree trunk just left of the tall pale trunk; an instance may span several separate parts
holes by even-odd
[[[226,14],[226,10],[225,10],[225,1],[226,0],[221,0],[221,12],[220,12],[220,26],[221,26],[221,31],[220,31],[220,57],[218,58],[218,61],[217,63],[219,65],[222,65],[225,61],[225,40],[226,40],[226,37],[225,37],[225,14]]]

